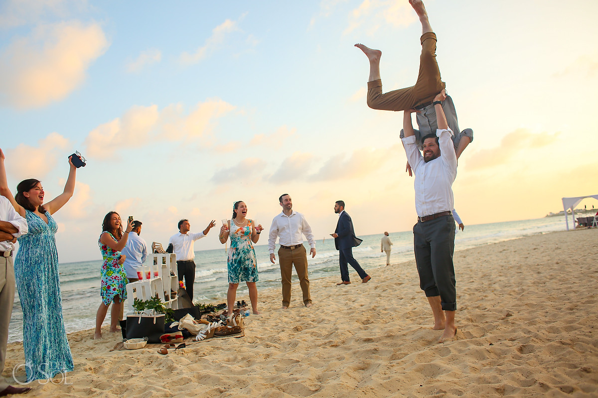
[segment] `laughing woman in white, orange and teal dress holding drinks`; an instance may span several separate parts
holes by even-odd
[[[247,205],[245,202],[234,202],[233,218],[228,221],[227,226],[220,229],[220,243],[224,245],[230,236],[230,248],[228,249],[228,317],[233,314],[234,300],[237,296],[237,288],[240,282],[245,282],[249,289],[249,300],[254,314],[258,311],[258,289],[255,282],[258,281],[258,267],[255,260],[253,243],[260,239],[263,228],[255,226],[253,220],[246,218]]]

